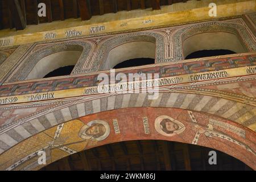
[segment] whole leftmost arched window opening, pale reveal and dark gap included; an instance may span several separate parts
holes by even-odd
[[[81,53],[82,51],[60,51],[43,57],[28,74],[26,80],[49,77],[47,76],[48,73],[56,71],[56,69],[58,69],[57,72],[59,72],[55,72],[59,74],[56,76],[69,75],[71,73],[70,68],[75,66]],[[52,74],[53,73],[50,75]]]

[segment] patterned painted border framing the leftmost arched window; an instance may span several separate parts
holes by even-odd
[[[92,46],[84,41],[68,41],[45,46],[35,52],[32,52],[31,55],[26,58],[26,60],[23,60],[23,62],[20,63],[20,66],[15,69],[14,74],[8,79],[8,81],[13,82],[26,80],[32,69],[36,67],[36,64],[38,64],[40,60],[42,60],[44,57],[64,51],[82,52],[75,68],[73,69],[73,72],[76,72],[77,70],[82,69],[81,65],[84,64],[84,61],[86,60],[86,57],[88,57],[91,49]],[[73,74],[73,72],[71,74]]]

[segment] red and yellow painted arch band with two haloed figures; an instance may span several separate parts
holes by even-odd
[[[126,113],[131,113],[127,115]],[[123,117],[123,115],[126,117]],[[162,121],[177,127],[165,133]],[[86,129],[101,124],[101,135],[89,136]],[[0,155],[0,168],[33,170],[38,164],[38,152],[45,151],[47,164],[82,150],[108,143],[138,139],[171,140],[197,144],[225,152],[256,169],[255,133],[228,119],[197,111],[134,107],[90,114],[61,123],[16,144]],[[15,155],[14,155],[15,154]],[[14,157],[15,156],[15,157]]]

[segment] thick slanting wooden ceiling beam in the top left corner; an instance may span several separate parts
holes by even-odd
[[[24,30],[26,28],[26,21],[22,8],[18,0],[9,0],[9,10],[11,13],[11,20],[14,22],[16,30]],[[11,25],[10,25],[11,27]]]

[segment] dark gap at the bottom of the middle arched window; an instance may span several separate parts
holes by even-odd
[[[123,61],[122,63],[119,63],[115,65],[114,69],[118,68],[127,68],[127,67],[138,67],[141,65],[147,65],[147,64],[154,64],[155,60],[151,58],[136,58],[136,59],[130,59]]]

